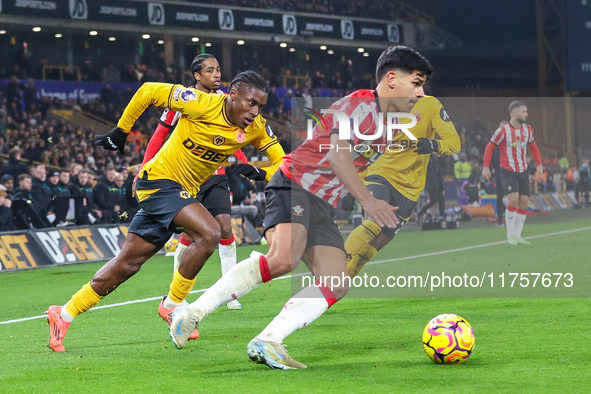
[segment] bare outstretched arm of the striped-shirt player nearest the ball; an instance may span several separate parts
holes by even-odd
[[[332,148],[329,151],[328,161],[345,188],[359,201],[365,212],[380,227],[395,228],[399,223],[398,217],[396,216],[398,207],[393,207],[386,201],[378,200],[371,195],[361,181],[361,178],[359,178],[359,174],[353,165],[353,158],[348,150],[350,146],[349,142],[339,140],[338,134],[332,134],[330,136],[330,143],[333,147],[338,146],[339,148]]]

